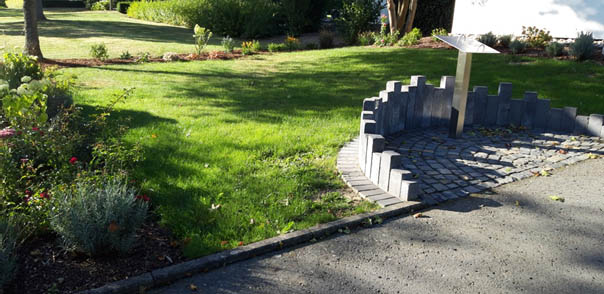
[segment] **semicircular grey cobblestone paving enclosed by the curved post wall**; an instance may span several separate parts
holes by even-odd
[[[422,200],[442,202],[604,154],[596,137],[512,129],[468,128],[461,139],[447,129],[417,130],[387,138],[402,169],[421,182]]]

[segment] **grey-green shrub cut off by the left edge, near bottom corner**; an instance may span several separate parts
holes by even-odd
[[[5,213],[0,214],[0,293],[2,288],[13,279],[17,264],[15,222],[13,217],[7,217]]]

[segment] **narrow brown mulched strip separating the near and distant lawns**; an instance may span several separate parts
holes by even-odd
[[[263,52],[257,52],[256,54],[262,54]],[[192,60],[229,60],[229,59],[237,59],[241,58],[244,55],[241,51],[233,51],[232,53],[225,53],[222,51],[212,51],[209,53],[198,54],[174,54],[175,59],[171,61],[192,61]],[[162,59],[161,56],[157,57],[149,57],[145,62],[169,62]],[[103,65],[111,65],[111,64],[135,64],[140,63],[138,57],[133,57],[129,59],[93,59],[93,58],[74,58],[74,59],[43,59],[41,61],[44,67],[49,66],[57,66],[57,67],[94,67],[94,66],[103,66]]]

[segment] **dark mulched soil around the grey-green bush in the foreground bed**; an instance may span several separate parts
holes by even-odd
[[[127,256],[66,252],[52,235],[26,243],[18,255],[18,273],[7,294],[75,293],[186,260],[180,244],[153,221],[140,229]]]

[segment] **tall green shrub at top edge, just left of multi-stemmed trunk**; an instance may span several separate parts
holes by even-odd
[[[348,44],[356,44],[359,33],[371,31],[382,8],[379,0],[343,0],[338,29]]]

